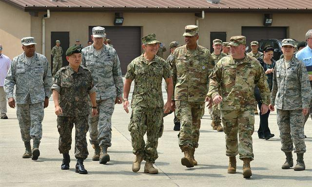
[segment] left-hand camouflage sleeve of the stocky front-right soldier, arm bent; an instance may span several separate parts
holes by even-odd
[[[222,60],[219,60],[215,64],[215,68],[209,75],[209,78],[209,92],[207,93],[207,96],[214,98],[216,95],[219,95],[218,90],[220,88],[222,79]]]

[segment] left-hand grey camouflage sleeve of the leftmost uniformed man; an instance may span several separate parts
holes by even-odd
[[[14,85],[15,85],[15,64],[17,63],[17,58],[12,60],[10,69],[4,79],[4,91],[6,93],[6,98],[13,97]]]

